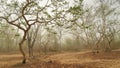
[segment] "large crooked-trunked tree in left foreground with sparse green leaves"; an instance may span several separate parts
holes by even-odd
[[[6,1],[5,1],[6,3]],[[20,30],[23,31],[23,36],[22,39],[19,43],[19,49],[20,52],[23,55],[23,61],[22,63],[26,63],[26,55],[25,52],[23,51],[23,43],[26,40],[27,37],[27,33],[30,30],[31,26],[34,25],[35,23],[42,23],[39,18],[38,18],[38,13],[41,12],[47,5],[45,5],[45,7],[43,7],[42,9],[40,9],[39,11],[33,12],[34,10],[30,10],[30,8],[34,7],[38,7],[36,6],[37,4],[34,1],[28,1],[26,0],[26,2],[24,3],[25,5],[19,4],[19,2],[14,2],[12,5],[13,7],[10,10],[7,10],[9,7],[11,7],[11,5],[6,5],[6,7],[2,6],[2,9],[6,12],[3,13],[3,16],[0,16],[1,19],[4,19],[7,23],[9,23],[10,25],[13,25],[17,28],[19,28]],[[21,7],[19,7],[21,6]],[[9,12],[12,10],[12,13]],[[31,13],[32,12],[32,13]],[[15,15],[17,18],[12,17],[12,15]],[[28,19],[27,16],[35,16],[34,19]],[[14,18],[14,19],[13,19]],[[22,24],[21,24],[22,22]],[[32,22],[32,23],[30,23]]]

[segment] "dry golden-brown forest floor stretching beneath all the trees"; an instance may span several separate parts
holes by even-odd
[[[20,54],[0,55],[0,68],[120,68],[120,51],[43,55],[21,64]]]

